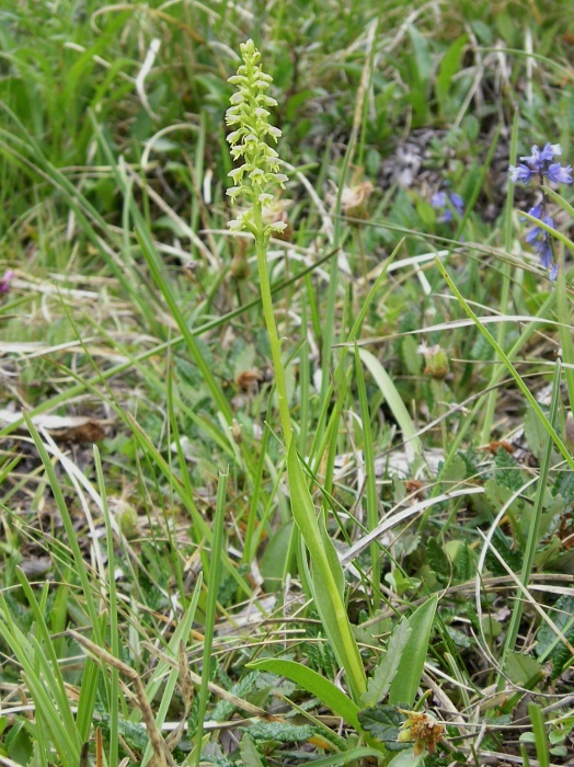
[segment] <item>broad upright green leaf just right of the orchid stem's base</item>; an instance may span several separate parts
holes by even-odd
[[[433,596],[409,618],[409,628],[412,633],[403,650],[399,671],[391,685],[390,703],[405,703],[407,708],[414,703],[423,675],[436,607],[437,597]]]

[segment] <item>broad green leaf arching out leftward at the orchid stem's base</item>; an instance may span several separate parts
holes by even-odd
[[[264,657],[261,661],[253,661],[248,664],[249,668],[267,671],[272,674],[285,676],[291,682],[297,683],[300,687],[311,692],[315,698],[324,703],[333,713],[351,724],[356,730],[359,730],[357,714],[358,706],[351,700],[338,687],[325,679],[324,676],[318,674],[312,668],[308,668],[295,661],[283,661],[279,659]]]

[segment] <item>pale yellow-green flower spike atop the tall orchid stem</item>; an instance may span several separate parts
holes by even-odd
[[[273,78],[262,70],[259,64],[261,54],[252,39],[242,43],[241,55],[243,64],[238,73],[229,78],[229,82],[237,85],[238,90],[230,99],[231,106],[226,115],[227,124],[236,126],[227,137],[231,145],[231,157],[241,161],[241,164],[229,173],[233,186],[228,188],[227,194],[231,202],[243,197],[249,208],[236,220],[230,221],[229,227],[236,232],[248,229],[256,234],[253,206],[259,207],[272,202],[274,195],[271,190],[277,185],[284,188],[287,176],[279,173],[278,154],[267,144],[267,137],[276,142],[282,135],[282,131],[268,122],[267,107],[277,105],[275,99],[265,93]],[[262,233],[269,237],[284,228],[285,224],[282,221],[265,224]]]

